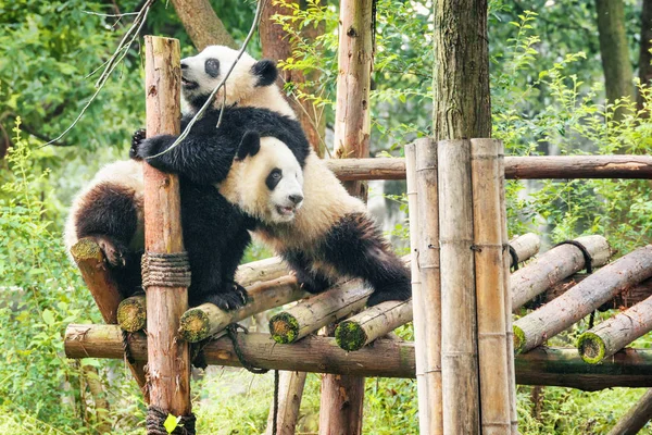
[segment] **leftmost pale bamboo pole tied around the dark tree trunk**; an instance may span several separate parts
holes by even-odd
[[[442,434],[437,145],[405,147],[419,432]]]

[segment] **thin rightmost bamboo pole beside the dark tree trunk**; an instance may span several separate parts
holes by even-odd
[[[510,234],[507,232],[507,203],[505,200],[506,178],[505,178],[505,147],[503,142],[498,146],[498,176],[499,176],[499,197],[500,197],[500,221],[502,245],[509,249]],[[538,250],[538,248],[537,248]],[[507,343],[507,386],[510,388],[510,425],[511,434],[518,435],[518,413],[516,410],[516,368],[514,366],[514,330],[512,328],[512,286],[510,284],[512,264],[511,256],[503,251],[503,288],[505,289],[505,333]]]

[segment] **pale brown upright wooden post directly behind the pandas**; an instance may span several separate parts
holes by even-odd
[[[369,86],[374,65],[373,0],[341,0],[335,110],[335,157],[369,154]],[[361,182],[344,183],[349,194],[366,199]],[[362,433],[364,377],[326,374],[322,378],[319,435]]]

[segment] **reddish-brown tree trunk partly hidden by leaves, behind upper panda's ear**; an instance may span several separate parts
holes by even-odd
[[[261,15],[261,24],[259,34],[261,36],[261,46],[263,48],[263,57],[275,61],[285,61],[292,57],[292,36],[283,29],[283,26],[275,22],[274,15],[292,16],[292,9],[289,4],[300,7],[302,2],[299,0],[287,0],[284,2],[268,1]],[[319,2],[317,2],[318,4]],[[289,24],[289,22],[286,22]],[[312,24],[303,29],[296,28],[301,36],[314,40],[318,35],[324,34],[325,25],[319,23],[316,27]],[[299,87],[306,94],[316,94],[317,89],[306,84],[306,77],[303,71],[300,70],[284,70],[279,71],[278,85],[283,88],[285,84]],[[285,94],[285,92],[284,92]],[[296,95],[286,96],[286,99],[297,113],[301,127],[308,137],[310,145],[319,157],[324,157],[325,152],[325,132],[326,117],[324,109],[316,108],[312,101],[299,100]]]

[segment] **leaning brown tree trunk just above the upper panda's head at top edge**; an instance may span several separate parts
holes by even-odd
[[[238,48],[209,0],[172,0],[172,4],[198,50],[208,46]]]

